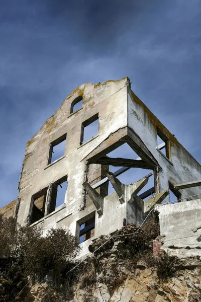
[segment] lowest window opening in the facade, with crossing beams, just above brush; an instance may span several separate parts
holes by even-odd
[[[77,221],[79,243],[82,243],[94,236],[95,212]]]

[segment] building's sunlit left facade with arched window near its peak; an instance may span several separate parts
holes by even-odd
[[[64,204],[34,224],[42,226],[44,232],[51,227],[65,226],[75,235],[76,221],[95,210],[93,204],[79,210],[85,172],[82,159],[110,133],[127,125],[127,80],[81,85],[27,143],[20,181],[19,223],[26,222],[32,196],[65,175],[68,190]],[[83,96],[82,108],[70,114],[71,103],[79,95]],[[80,146],[81,123],[96,113],[99,117],[98,135]],[[50,143],[64,133],[67,133],[65,156],[48,166]]]

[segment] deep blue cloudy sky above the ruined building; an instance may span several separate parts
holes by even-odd
[[[127,75],[200,162],[200,13],[200,0],[0,0],[0,206],[26,142],[86,82]]]

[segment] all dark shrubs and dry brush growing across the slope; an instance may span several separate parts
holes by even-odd
[[[132,233],[135,234],[129,235]],[[94,255],[69,273],[76,265],[80,247],[68,231],[51,229],[42,236],[40,229],[20,226],[15,219],[0,215],[0,302],[34,301],[30,295],[34,284],[45,284],[44,302],[68,301],[73,299],[75,287],[82,290],[100,282],[112,294],[141,260],[163,278],[176,272],[175,257],[153,258],[152,240],[159,236],[156,213],[148,217],[141,229],[127,224],[115,235],[116,238],[100,236],[94,240],[89,246],[90,252],[96,250]],[[91,291],[90,294],[92,298]]]

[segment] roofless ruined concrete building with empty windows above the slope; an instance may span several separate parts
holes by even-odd
[[[125,159],[118,150],[128,147],[133,156]],[[128,170],[127,185],[118,176]],[[86,83],[28,141],[10,209],[19,223],[44,232],[68,229],[84,256],[91,240],[141,224],[155,203],[178,200],[157,205],[162,236],[171,242],[166,247],[179,239],[177,248],[192,246],[199,254],[200,179],[200,165],[132,92],[128,78]]]

